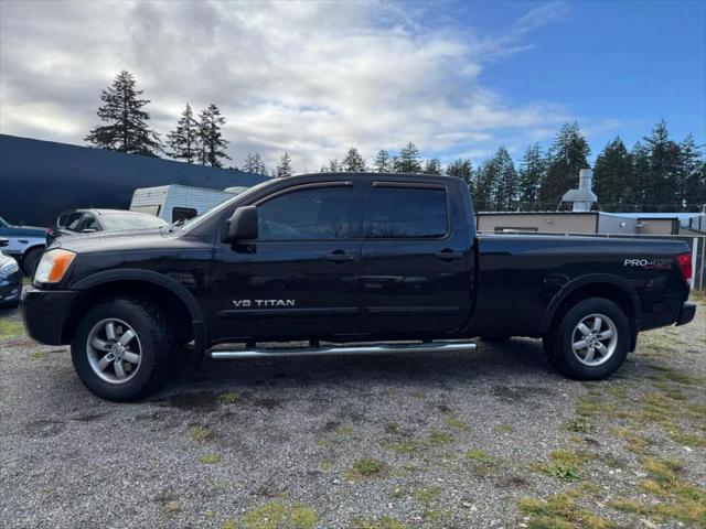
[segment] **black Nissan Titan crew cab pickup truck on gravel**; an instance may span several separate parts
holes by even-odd
[[[22,315],[34,339],[71,344],[81,380],[110,400],[157,391],[192,341],[199,355],[252,358],[531,336],[561,374],[593,380],[640,331],[693,320],[691,273],[678,241],[479,236],[458,179],[309,174],[181,225],[58,239]],[[257,346],[293,341],[309,346]]]

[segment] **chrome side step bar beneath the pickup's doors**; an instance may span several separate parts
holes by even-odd
[[[454,353],[472,350],[473,342],[430,342],[427,344],[377,344],[350,345],[335,347],[254,347],[243,350],[212,350],[214,360],[232,360],[236,358],[272,358],[284,356],[333,356],[333,355],[383,355],[389,353]]]

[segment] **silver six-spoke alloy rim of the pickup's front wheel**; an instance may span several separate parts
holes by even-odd
[[[88,333],[88,363],[94,373],[110,384],[130,380],[140,367],[142,346],[135,330],[122,320],[101,320]]]

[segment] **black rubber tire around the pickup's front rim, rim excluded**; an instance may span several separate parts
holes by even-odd
[[[139,338],[141,359],[126,381],[105,380],[88,359],[89,333],[110,319],[125,322]],[[84,386],[94,395],[114,401],[139,400],[157,392],[169,378],[175,350],[174,333],[163,311],[139,298],[117,298],[96,305],[78,323],[71,345],[74,369]]]

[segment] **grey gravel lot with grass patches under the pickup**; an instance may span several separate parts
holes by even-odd
[[[3,527],[706,527],[706,303],[612,379],[541,343],[182,367],[115,404],[0,312]]]

